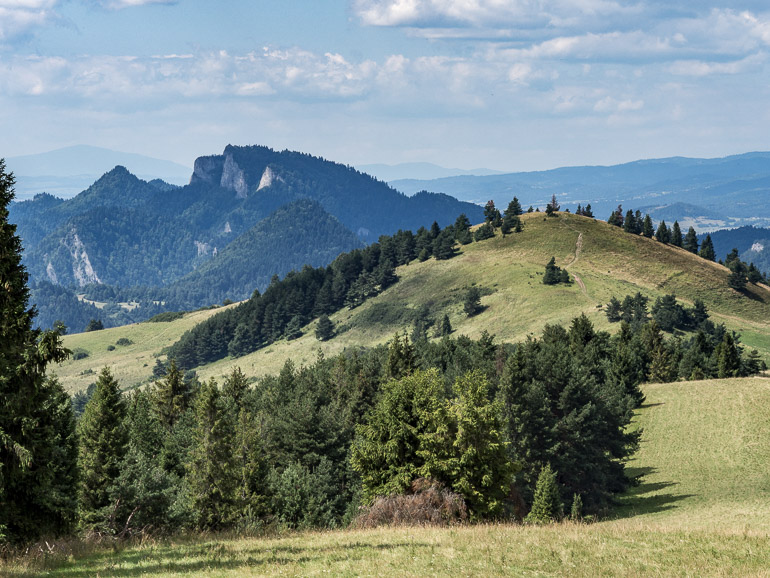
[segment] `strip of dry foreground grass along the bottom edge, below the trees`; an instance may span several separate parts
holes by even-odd
[[[760,576],[767,536],[559,524],[297,533],[99,552],[9,576]]]

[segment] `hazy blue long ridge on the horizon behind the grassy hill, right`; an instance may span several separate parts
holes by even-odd
[[[770,225],[770,153],[754,152],[718,159],[672,157],[615,166],[562,167],[548,171],[433,180],[396,180],[400,191],[440,191],[461,200],[497,205],[514,195],[526,207],[545,207],[556,195],[574,211],[591,203],[606,219],[618,204],[655,207],[660,218],[679,219],[698,231],[742,224]],[[665,211],[665,213],[664,213]],[[668,216],[663,217],[663,214]]]

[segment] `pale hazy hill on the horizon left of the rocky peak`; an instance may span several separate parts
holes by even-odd
[[[116,165],[127,167],[142,179],[162,179],[175,185],[186,184],[192,173],[189,167],[171,161],[86,145],[9,157],[6,164],[16,176],[19,200],[44,192],[73,197]]]

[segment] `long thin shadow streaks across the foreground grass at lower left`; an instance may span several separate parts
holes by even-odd
[[[152,576],[154,574],[204,575],[214,571],[244,570],[264,574],[289,564],[324,564],[378,556],[383,550],[423,549],[427,543],[404,542],[395,544],[368,544],[355,542],[329,546],[276,545],[274,540],[254,539],[253,547],[232,548],[228,540],[205,544],[178,544],[125,552],[104,551],[80,560],[62,561],[48,568],[6,574],[13,577],[65,576],[91,578],[93,576]],[[368,553],[367,553],[368,551]]]

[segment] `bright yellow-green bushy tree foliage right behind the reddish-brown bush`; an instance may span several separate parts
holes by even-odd
[[[499,408],[489,402],[479,374],[455,382],[454,393],[446,398],[435,369],[383,386],[351,454],[366,501],[402,493],[415,479],[429,477],[461,494],[479,518],[503,512],[515,468],[506,455]]]

